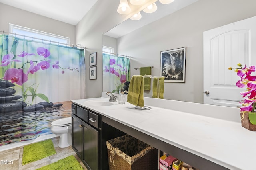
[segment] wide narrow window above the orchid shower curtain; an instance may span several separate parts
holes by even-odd
[[[47,41],[47,43],[50,41],[52,44],[70,44],[70,38],[68,37],[63,37],[60,35],[55,35],[55,34],[51,34],[51,33],[46,33],[43,31],[38,31],[35,29],[30,29],[30,28],[26,28],[26,27],[21,27],[18,25],[13,25],[13,24],[9,24],[9,32],[10,33],[14,33],[14,35],[18,38],[26,38],[29,40],[38,40],[38,41],[42,41],[45,40]]]

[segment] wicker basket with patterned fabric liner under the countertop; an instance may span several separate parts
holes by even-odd
[[[106,142],[110,170],[158,170],[158,150],[124,135]]]

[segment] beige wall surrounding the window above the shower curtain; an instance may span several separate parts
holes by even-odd
[[[9,32],[9,23],[69,37],[70,44],[76,44],[74,25],[0,3],[0,31]]]

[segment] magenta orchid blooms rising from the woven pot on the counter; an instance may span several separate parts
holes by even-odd
[[[244,100],[240,103],[242,107],[240,107],[240,112],[253,112],[256,107],[256,76],[252,76],[252,72],[255,72],[255,66],[250,66],[249,68],[245,65],[242,68],[242,64],[237,64],[238,68],[228,68],[229,70],[234,69],[237,72],[237,75],[241,78],[236,82],[236,86],[239,88],[246,87],[244,92],[240,94],[243,95]]]

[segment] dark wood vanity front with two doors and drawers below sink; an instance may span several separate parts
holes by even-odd
[[[100,129],[98,129],[100,119],[98,117],[96,113],[80,106],[76,106],[76,113],[72,113],[72,148],[88,170],[100,169]]]

